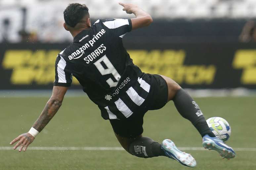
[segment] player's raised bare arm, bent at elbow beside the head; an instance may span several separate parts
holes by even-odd
[[[123,11],[126,11],[127,14],[135,14],[136,18],[131,19],[132,30],[149,26],[153,22],[153,19],[150,16],[150,14],[143,11],[137,5],[125,4],[125,3],[119,3],[119,4],[124,7]]]

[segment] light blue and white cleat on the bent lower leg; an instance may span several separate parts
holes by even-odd
[[[171,159],[177,160],[182,165],[189,167],[196,166],[195,159],[190,154],[178,150],[173,141],[171,141],[170,139],[163,140],[161,148],[164,150],[166,156]]]

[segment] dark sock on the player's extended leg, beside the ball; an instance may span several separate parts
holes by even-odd
[[[173,102],[182,117],[188,119],[203,137],[208,134],[215,137],[209,129],[202,111],[192,97],[184,90],[180,89],[173,98]]]

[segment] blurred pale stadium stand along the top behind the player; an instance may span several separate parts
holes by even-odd
[[[0,0],[0,42],[22,41],[21,30],[36,32],[40,42],[71,41],[62,28],[68,3],[86,3],[92,18],[126,18],[119,0]],[[255,0],[123,0],[138,4],[155,19],[248,19],[256,17]],[[54,7],[54,8],[52,8]],[[100,12],[99,12],[100,11]],[[25,18],[25,19],[24,19]],[[21,22],[22,21],[22,22]],[[57,30],[57,31],[54,31]],[[8,36],[7,36],[8,35]],[[25,34],[26,35],[26,34]]]

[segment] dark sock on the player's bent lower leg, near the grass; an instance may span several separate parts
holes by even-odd
[[[144,158],[166,156],[161,149],[161,144],[149,137],[141,137],[133,141],[129,146],[129,152],[134,156]]]

